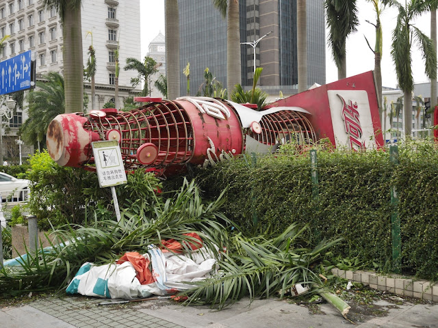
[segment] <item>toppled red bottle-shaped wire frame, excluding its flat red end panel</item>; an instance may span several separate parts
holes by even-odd
[[[164,172],[242,154],[248,137],[274,146],[290,139],[308,142],[315,134],[304,113],[270,110],[265,114],[226,100],[187,97],[149,102],[127,112],[107,109],[58,115],[49,126],[47,148],[60,165],[90,168],[91,142],[117,140],[126,169],[150,167]]]

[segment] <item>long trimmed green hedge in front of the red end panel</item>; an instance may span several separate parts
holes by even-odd
[[[402,233],[402,271],[438,279],[438,150],[409,143],[389,152],[318,150],[319,197],[312,198],[309,153],[250,156],[200,169],[198,183],[210,197],[228,188],[226,214],[244,231],[284,230],[309,223],[315,238],[343,237],[335,255],[391,271],[390,186],[396,185]],[[255,222],[257,222],[255,224]]]

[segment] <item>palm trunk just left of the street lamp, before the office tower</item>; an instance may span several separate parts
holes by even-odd
[[[240,83],[242,83],[242,72],[240,72],[239,1],[230,0],[227,8],[227,90],[229,98],[235,85]]]

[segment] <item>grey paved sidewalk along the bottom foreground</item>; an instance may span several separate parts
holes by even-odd
[[[279,299],[255,300],[249,305],[242,299],[230,308],[211,312],[209,308],[183,307],[170,301],[145,301],[128,305],[104,305],[102,299],[86,297],[47,297],[27,305],[0,309],[0,327],[4,328],[68,328],[68,327],[355,327],[329,304],[318,305],[318,314]],[[348,317],[362,328],[437,327],[438,304],[404,301],[395,305],[376,301],[376,313],[359,314],[350,310]]]

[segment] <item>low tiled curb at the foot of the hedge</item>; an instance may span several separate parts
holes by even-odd
[[[372,271],[344,271],[337,268],[331,269],[331,273],[352,282],[360,282],[373,289],[438,302],[438,283],[427,280],[417,280],[401,275],[379,275]]]

